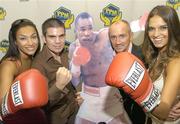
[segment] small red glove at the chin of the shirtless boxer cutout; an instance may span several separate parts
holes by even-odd
[[[89,62],[90,59],[91,59],[91,54],[87,48],[82,46],[76,47],[72,58],[72,63],[74,65],[76,66],[85,65],[86,63]]]

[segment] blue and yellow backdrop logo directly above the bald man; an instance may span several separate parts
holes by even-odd
[[[104,26],[109,26],[113,22],[121,20],[122,12],[119,10],[119,7],[109,4],[100,13],[100,18],[104,22]]]

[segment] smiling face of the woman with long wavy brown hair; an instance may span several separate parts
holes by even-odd
[[[156,48],[162,50],[168,43],[168,26],[160,16],[153,16],[149,20],[148,36]]]

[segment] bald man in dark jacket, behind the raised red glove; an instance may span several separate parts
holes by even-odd
[[[132,43],[133,33],[131,32],[130,25],[127,21],[121,20],[113,23],[109,28],[109,39],[115,53],[128,51],[141,60],[144,60],[141,48]],[[125,110],[133,124],[144,124],[146,115],[142,108],[125,94],[123,90],[119,90],[124,100]]]

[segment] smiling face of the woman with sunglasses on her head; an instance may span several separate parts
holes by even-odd
[[[16,33],[16,45],[21,54],[25,56],[34,55],[38,48],[38,34],[34,27],[25,26],[18,29]]]

